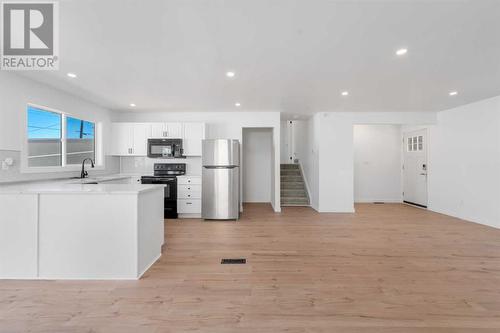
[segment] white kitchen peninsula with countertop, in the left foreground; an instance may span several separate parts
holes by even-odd
[[[0,278],[138,279],[161,256],[163,186],[0,188]]]

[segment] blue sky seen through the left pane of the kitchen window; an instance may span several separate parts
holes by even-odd
[[[28,107],[28,138],[61,138],[61,115],[34,107]]]

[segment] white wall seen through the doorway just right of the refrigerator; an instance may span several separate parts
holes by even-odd
[[[243,202],[271,202],[272,143],[271,129],[243,130]]]

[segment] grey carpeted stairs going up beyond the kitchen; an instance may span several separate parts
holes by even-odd
[[[298,164],[281,164],[281,206],[309,206],[302,172]]]

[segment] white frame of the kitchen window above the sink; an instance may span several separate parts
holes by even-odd
[[[61,115],[61,165],[60,166],[36,166],[30,167],[28,165],[28,109],[36,108],[42,111],[57,113]],[[104,154],[103,154],[103,140],[102,140],[102,123],[95,119],[82,119],[83,117],[69,112],[63,112],[54,108],[34,103],[27,103],[24,110],[24,121],[22,122],[23,144],[21,150],[21,173],[47,173],[47,172],[65,172],[65,171],[78,171],[81,169],[80,164],[67,164],[67,117],[77,118],[83,121],[91,122],[94,124],[94,154],[95,154],[95,169],[103,170]]]

